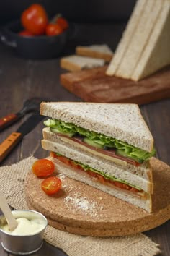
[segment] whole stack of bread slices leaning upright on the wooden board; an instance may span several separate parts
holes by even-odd
[[[106,74],[138,81],[170,64],[170,1],[137,0]]]

